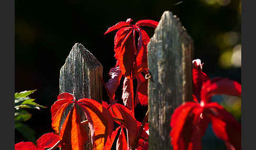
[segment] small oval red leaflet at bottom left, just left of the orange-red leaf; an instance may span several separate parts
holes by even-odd
[[[36,141],[36,144],[38,147],[50,148],[50,147],[53,147],[58,141],[59,141],[58,135],[51,132],[51,133],[46,133],[42,135],[40,138],[38,138],[38,140]]]

